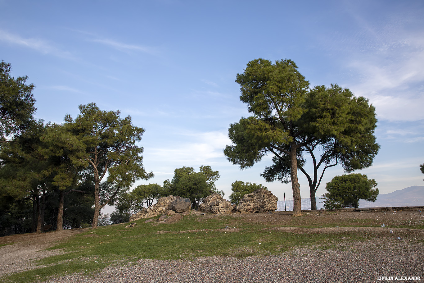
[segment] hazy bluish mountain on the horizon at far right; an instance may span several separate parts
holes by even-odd
[[[359,207],[421,206],[424,205],[424,186],[412,186],[393,193],[380,193],[375,202],[361,200]]]

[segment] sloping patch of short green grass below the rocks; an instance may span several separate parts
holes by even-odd
[[[110,264],[126,264],[139,259],[175,260],[215,255],[244,258],[276,255],[299,246],[312,245],[319,249],[329,249],[336,242],[366,238],[356,233],[299,234],[273,228],[369,226],[356,219],[327,223],[325,217],[305,216],[288,217],[285,223],[278,225],[272,221],[258,221],[225,215],[209,219],[191,215],[174,224],[155,225],[145,223],[145,219],[142,219],[136,221],[137,225],[133,228],[126,229],[127,224],[98,227],[51,247],[50,249],[61,249],[63,253],[39,260],[38,268],[0,279],[3,282],[27,283],[47,280],[53,275],[62,276],[75,272],[93,274]],[[223,229],[226,226],[238,229],[230,232]]]

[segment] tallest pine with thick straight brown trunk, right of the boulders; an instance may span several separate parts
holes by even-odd
[[[268,153],[290,163],[293,191],[293,215],[301,214],[300,185],[297,178],[297,151],[305,146],[297,121],[306,112],[309,82],[289,59],[272,63],[265,59],[248,62],[244,73],[237,74],[240,100],[248,104],[253,116],[241,118],[229,128],[232,146],[224,154],[241,169],[251,167]],[[300,137],[300,139],[299,139]]]

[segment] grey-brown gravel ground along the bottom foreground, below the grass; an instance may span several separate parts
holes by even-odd
[[[424,245],[387,238],[338,244],[334,249],[299,248],[279,256],[206,257],[193,260],[140,260],[109,266],[93,277],[69,275],[48,283],[239,283],[239,282],[382,282],[379,276],[424,280]],[[420,280],[402,280],[420,282]]]

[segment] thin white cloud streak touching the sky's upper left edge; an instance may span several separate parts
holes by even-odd
[[[11,45],[19,45],[22,47],[31,48],[40,53],[52,54],[61,58],[73,58],[70,52],[60,50],[53,44],[43,39],[23,38],[17,34],[11,34],[7,31],[0,30],[0,41],[6,42]]]

